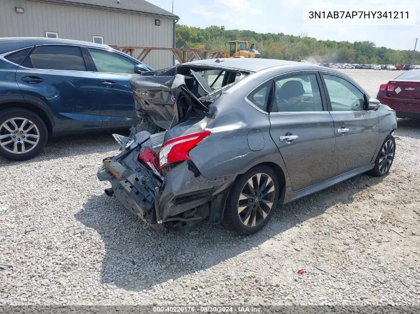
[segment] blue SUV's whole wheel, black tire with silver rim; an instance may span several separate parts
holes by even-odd
[[[23,161],[33,158],[45,146],[48,131],[35,113],[25,109],[0,112],[0,156]]]

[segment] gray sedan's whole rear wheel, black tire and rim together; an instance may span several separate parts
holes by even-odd
[[[256,166],[234,182],[226,202],[224,224],[249,235],[264,227],[277,206],[280,185],[275,172]]]

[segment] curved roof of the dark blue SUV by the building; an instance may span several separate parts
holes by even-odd
[[[70,39],[60,39],[60,38],[43,38],[43,37],[10,37],[10,38],[0,38],[0,54],[7,53],[9,51],[14,51],[22,49],[25,47],[35,46],[35,45],[78,45],[91,48],[102,48],[102,49],[112,49],[109,46],[94,44],[89,42],[83,42],[78,40]]]

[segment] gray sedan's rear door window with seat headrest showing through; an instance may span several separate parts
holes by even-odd
[[[298,74],[275,80],[271,112],[323,111],[315,74]]]

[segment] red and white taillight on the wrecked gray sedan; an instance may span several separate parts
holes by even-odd
[[[204,130],[175,137],[163,143],[159,151],[160,166],[189,159],[188,152],[210,134],[210,130]]]

